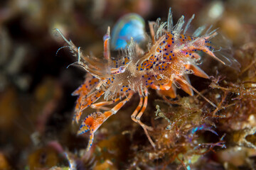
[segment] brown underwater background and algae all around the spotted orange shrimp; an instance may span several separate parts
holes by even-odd
[[[86,72],[68,67],[77,60],[68,50],[56,55],[65,44],[54,29],[84,54],[102,57],[102,37],[120,17],[139,14],[149,34],[148,21],[166,21],[170,7],[174,23],[194,13],[189,29],[218,28],[225,36],[218,45],[229,45],[240,71],[205,55],[200,67],[210,79],[190,76],[217,108],[196,94],[161,98],[150,89],[142,122],[154,128],[157,149],[130,118],[134,96],[85,152],[88,134],[77,136],[79,125],[71,124],[71,94]],[[1,1],[0,169],[256,169],[255,16],[255,0]]]

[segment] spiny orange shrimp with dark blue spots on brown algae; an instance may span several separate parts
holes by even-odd
[[[155,147],[147,132],[147,130],[153,129],[140,121],[146,109],[148,89],[156,89],[161,95],[175,98],[176,87],[178,87],[192,96],[196,89],[191,86],[187,74],[209,78],[197,66],[198,61],[201,60],[198,51],[205,52],[223,64],[239,66],[239,63],[231,56],[215,56],[213,47],[210,45],[210,38],[217,34],[215,30],[209,33],[208,29],[204,35],[200,35],[203,28],[198,28],[192,36],[186,35],[186,30],[192,20],[193,16],[183,27],[185,22],[182,16],[173,26],[170,9],[167,22],[159,23],[159,20],[149,22],[152,45],[149,43],[147,51],[142,50],[137,42],[131,39],[119,57],[110,57],[110,28],[108,28],[107,34],[103,38],[105,58],[103,60],[83,55],[80,47],[75,47],[73,42],[64,38],[58,30],[58,33],[68,43],[68,46],[65,47],[69,47],[71,52],[78,56],[76,63],[87,71],[84,84],[73,92],[74,96],[78,96],[73,123],[79,122],[82,111],[89,106],[104,108],[104,106],[119,101],[110,111],[91,113],[82,121],[78,135],[90,131],[87,150],[90,149],[94,133],[100,128],[100,125],[111,115],[117,113],[137,93],[140,96],[140,101],[131,118],[142,126],[149,142]],[[183,34],[181,34],[182,31]],[[200,94],[198,91],[196,92]],[[104,95],[105,101],[95,103],[102,95]],[[205,99],[215,106],[207,98]]]

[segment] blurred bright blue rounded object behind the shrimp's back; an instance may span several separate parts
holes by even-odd
[[[145,21],[136,13],[129,13],[117,21],[111,35],[112,49],[124,49],[131,38],[137,43],[146,38]]]

